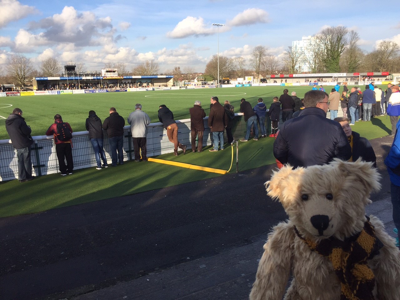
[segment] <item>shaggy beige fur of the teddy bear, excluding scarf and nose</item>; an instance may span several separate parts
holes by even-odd
[[[330,236],[343,240],[360,232],[370,192],[380,189],[379,179],[372,164],[360,160],[334,160],[294,170],[284,166],[274,172],[266,182],[267,193],[279,199],[289,220],[276,225],[268,236],[250,300],[281,300],[282,296],[285,300],[340,300],[340,282],[332,263],[311,251],[294,232],[294,225],[303,237],[316,242]],[[315,215],[329,216],[323,232],[310,221]],[[376,237],[384,244],[368,262],[376,280],[374,295],[377,300],[400,300],[400,251],[382,222],[370,218]]]

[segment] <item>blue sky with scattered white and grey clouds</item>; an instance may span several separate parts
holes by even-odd
[[[217,53],[243,56],[263,45],[279,56],[293,40],[326,26],[343,25],[360,35],[360,47],[372,51],[380,40],[400,44],[400,18],[376,1],[304,2],[237,0],[0,0],[0,66],[22,52],[36,68],[48,57],[82,61],[86,70],[107,62],[127,69],[150,59],[160,72],[180,66],[204,72]],[[354,8],[354,13],[351,12]]]

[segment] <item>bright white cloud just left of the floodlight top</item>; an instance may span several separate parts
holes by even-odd
[[[203,18],[188,16],[180,21],[174,30],[167,32],[168,38],[186,38],[188,36],[208,36],[215,34],[216,30],[207,27]]]

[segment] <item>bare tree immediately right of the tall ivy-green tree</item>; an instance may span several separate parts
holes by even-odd
[[[354,30],[351,30],[348,34],[348,45],[340,56],[340,70],[343,72],[356,72],[364,58],[364,53],[358,46],[360,36]]]

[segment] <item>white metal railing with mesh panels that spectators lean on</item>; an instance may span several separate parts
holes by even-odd
[[[178,125],[178,140],[190,149],[190,119],[176,121]],[[212,134],[208,127],[208,117],[204,118],[203,146],[212,144]],[[270,133],[271,122],[266,118],[267,132]],[[246,134],[246,122],[242,114],[235,114],[232,135],[234,139],[243,138]],[[94,151],[87,131],[72,133],[72,156],[74,169],[89,168],[96,166]],[[227,140],[226,133],[224,139]],[[34,136],[34,144],[31,149],[32,175],[42,176],[57,173],[58,160],[56,146],[52,136]],[[174,151],[172,144],[166,135],[166,130],[161,123],[152,123],[148,126],[147,133],[147,156],[156,156]],[[124,127],[124,160],[134,159],[133,140],[130,133],[130,126]],[[104,151],[106,159],[111,161],[110,147],[108,144],[107,133],[104,132]],[[0,140],[0,181],[18,178],[18,160],[16,151],[10,140]]]

